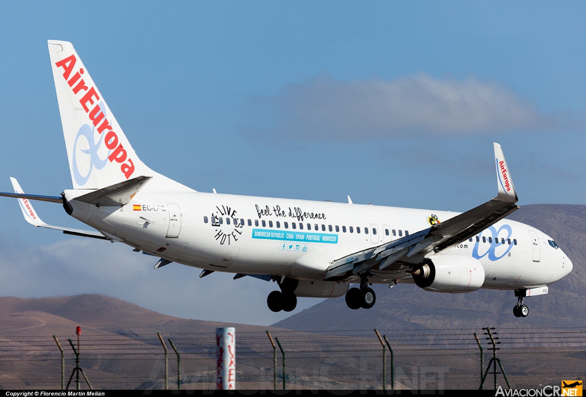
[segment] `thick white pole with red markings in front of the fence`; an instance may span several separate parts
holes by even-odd
[[[236,328],[216,328],[216,389],[236,389]]]

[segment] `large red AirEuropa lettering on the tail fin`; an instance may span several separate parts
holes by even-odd
[[[116,132],[113,131],[110,122],[108,119],[105,118],[104,113],[101,111],[100,105],[96,103],[96,105],[90,110],[88,105],[94,105],[94,101],[97,102],[100,100],[100,96],[96,92],[96,88],[90,87],[88,88],[86,82],[81,78],[81,75],[84,74],[83,68],[80,68],[76,71],[73,77],[71,73],[75,69],[75,64],[77,59],[75,55],[71,55],[59,62],[55,63],[55,66],[63,68],[63,78],[71,87],[71,91],[73,91],[74,95],[81,95],[83,97],[79,100],[81,107],[83,107],[84,111],[88,114],[90,122],[93,123],[94,126],[97,127],[98,134],[102,134],[105,131],[105,136],[100,138],[100,141],[104,141],[106,148],[110,150],[110,155],[108,156],[108,160],[110,162],[117,162],[121,163],[120,170],[122,174],[126,177],[126,179],[130,178],[132,173],[134,172],[134,163],[130,158],[128,158],[128,153],[124,149],[121,143],[118,143],[118,135]],[[98,124],[100,126],[98,126]]]

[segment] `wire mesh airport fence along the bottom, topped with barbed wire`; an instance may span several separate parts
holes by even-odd
[[[481,373],[493,357],[486,330],[378,332],[273,329],[271,337],[278,338],[281,352],[276,343],[273,349],[267,333],[239,333],[236,328],[236,386],[478,389]],[[474,333],[483,351],[482,367]],[[496,355],[513,388],[559,385],[562,379],[584,378],[584,328],[500,328],[492,333],[498,338]],[[167,350],[166,364],[162,342]],[[77,349],[75,335],[0,336],[0,388],[61,389],[76,368],[71,344]],[[93,389],[216,388],[214,333],[161,334],[160,338],[157,334],[89,334],[80,338],[79,349],[80,368]],[[493,388],[492,368],[486,375],[485,389]],[[83,374],[79,374],[79,387],[87,389]],[[503,374],[496,376],[498,384],[506,385]],[[69,389],[76,388],[76,380],[74,373]]]

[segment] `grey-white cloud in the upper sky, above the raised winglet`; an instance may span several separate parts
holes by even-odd
[[[268,129],[249,135],[363,139],[410,133],[474,134],[566,128],[562,115],[539,111],[502,84],[427,74],[396,80],[338,81],[321,74],[286,85],[262,102],[276,112]]]

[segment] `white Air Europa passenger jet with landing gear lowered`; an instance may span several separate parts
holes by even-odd
[[[431,292],[515,290],[544,295],[572,271],[556,242],[506,220],[517,193],[503,150],[494,143],[498,194],[464,213],[333,201],[204,193],[169,179],[139,159],[87,68],[69,42],[48,40],[73,189],[25,194],[11,178],[26,221],[65,234],[122,242],[158,257],[213,272],[275,282],[273,312],[297,297],[345,296],[350,309],[376,302],[372,284],[415,284]],[[93,231],[44,223],[31,201],[62,204]],[[357,287],[349,288],[350,284]]]

